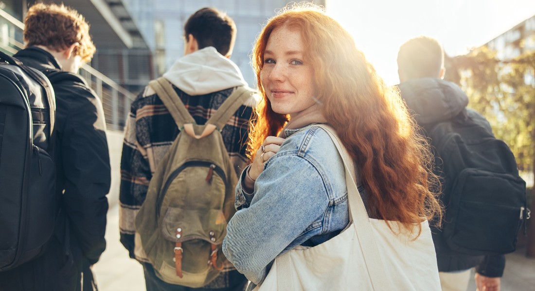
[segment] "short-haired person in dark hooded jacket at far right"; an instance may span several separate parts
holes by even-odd
[[[418,125],[424,127],[427,124],[453,120],[464,114],[492,133],[485,117],[467,108],[468,96],[462,89],[452,82],[442,80],[445,73],[444,51],[434,38],[420,36],[401,45],[398,53],[398,73],[401,98],[406,102]],[[447,212],[448,203],[442,202]],[[440,230],[433,227],[432,234],[442,290],[465,291],[470,280],[470,269],[473,267],[476,267],[478,290],[500,290],[505,256],[464,255],[446,245]]]

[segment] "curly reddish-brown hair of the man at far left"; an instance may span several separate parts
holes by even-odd
[[[95,45],[89,36],[89,23],[78,11],[63,4],[37,3],[28,9],[24,19],[26,47],[42,45],[55,51],[63,51],[73,43],[75,56],[83,62],[93,58]]]

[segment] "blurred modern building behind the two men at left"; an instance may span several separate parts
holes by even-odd
[[[22,20],[36,0],[0,0],[0,50],[21,49]],[[122,130],[132,100],[184,54],[184,24],[202,7],[216,7],[234,19],[238,35],[231,59],[256,87],[250,53],[265,21],[287,0],[45,0],[78,10],[90,24],[97,47],[80,73],[101,96],[108,128]],[[325,5],[325,0],[315,1]]]

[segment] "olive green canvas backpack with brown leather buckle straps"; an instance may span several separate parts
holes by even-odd
[[[220,130],[253,91],[237,88],[205,125],[197,125],[169,81],[158,78],[149,85],[180,133],[150,180],[135,218],[136,256],[146,258],[167,283],[202,287],[230,264],[221,243],[236,212],[238,178]]]

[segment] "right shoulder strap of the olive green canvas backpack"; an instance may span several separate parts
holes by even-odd
[[[228,119],[240,108],[241,105],[254,94],[254,91],[247,86],[236,88],[234,92],[219,106],[216,113],[207,121],[207,124],[216,125],[218,130],[223,129]]]

